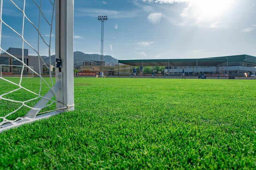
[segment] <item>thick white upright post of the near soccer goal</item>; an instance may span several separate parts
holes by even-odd
[[[57,93],[56,108],[63,111],[74,110],[74,0],[56,1],[55,59],[56,82],[61,81],[62,88]]]

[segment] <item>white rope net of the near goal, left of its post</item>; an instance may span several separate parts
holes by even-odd
[[[49,102],[44,108],[33,108],[35,103],[54,87],[52,72],[49,71],[50,81],[45,80],[42,68],[44,65],[45,69],[51,70],[55,0],[1,0],[0,3],[0,53],[4,54],[8,62],[20,65],[18,78],[2,75],[0,77],[1,126],[6,123],[15,124],[18,120],[25,119],[26,113],[31,109],[40,110],[37,114],[51,111],[50,109],[55,109],[53,104],[56,101],[54,97],[47,98]],[[20,55],[13,54],[6,50],[6,44],[18,46],[22,52]],[[25,57],[26,49],[29,49],[32,58],[37,62],[36,69],[29,66]],[[47,57],[48,63],[44,61]],[[11,66],[9,68],[12,69]],[[25,72],[33,72],[36,75],[38,82],[35,87],[27,83],[29,79],[25,78]]]

